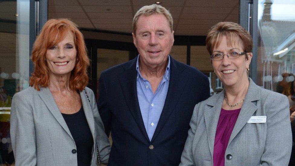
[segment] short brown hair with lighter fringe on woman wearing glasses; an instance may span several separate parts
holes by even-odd
[[[243,43],[244,51],[252,52],[253,40],[248,31],[234,22],[219,22],[209,30],[206,37],[206,47],[210,55],[212,55],[214,47],[219,46],[223,36],[226,36],[228,45],[232,45],[234,39],[239,39]]]

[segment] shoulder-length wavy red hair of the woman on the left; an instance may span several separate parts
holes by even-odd
[[[35,67],[30,77],[30,86],[36,90],[40,90],[39,87],[48,87],[50,70],[46,62],[47,49],[62,41],[70,31],[74,36],[77,59],[71,72],[69,87],[71,90],[79,91],[85,88],[88,84],[87,67],[90,63],[84,37],[77,27],[75,23],[65,18],[50,19],[44,24],[33,45],[32,61]]]

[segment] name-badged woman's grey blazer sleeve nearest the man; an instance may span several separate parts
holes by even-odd
[[[188,131],[188,136],[186,138],[186,142],[184,145],[184,149],[181,155],[181,162],[180,166],[183,165],[194,165],[193,162],[193,139],[195,137],[195,132],[196,132],[196,127],[197,127],[197,119],[198,119],[198,109],[199,109],[199,104],[197,104],[193,110],[193,116],[192,119],[190,120],[190,129]]]

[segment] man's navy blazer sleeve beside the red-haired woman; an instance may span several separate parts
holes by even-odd
[[[100,117],[102,119],[103,125],[105,126],[105,134],[107,136],[110,135],[111,132],[111,122],[112,122],[112,114],[109,110],[108,102],[107,102],[107,90],[105,88],[105,81],[103,79],[104,72],[102,72],[99,78],[99,97],[98,97],[98,110]]]

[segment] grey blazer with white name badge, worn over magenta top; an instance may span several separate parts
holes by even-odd
[[[251,79],[242,109],[225,151],[225,166],[288,165],[292,133],[287,96],[263,89]],[[213,165],[216,127],[224,91],[198,103],[190,121],[180,165]],[[247,123],[267,116],[266,123]],[[227,155],[232,155],[227,159]]]

